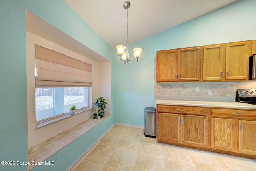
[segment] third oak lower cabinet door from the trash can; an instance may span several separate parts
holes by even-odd
[[[234,119],[212,118],[211,146],[215,149],[234,151],[236,121]]]

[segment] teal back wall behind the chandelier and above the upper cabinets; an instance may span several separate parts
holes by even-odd
[[[116,123],[144,126],[144,108],[155,107],[156,51],[256,39],[255,7],[256,0],[239,0],[130,45],[143,51],[138,63],[116,57]]]

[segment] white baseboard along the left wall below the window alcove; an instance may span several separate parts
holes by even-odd
[[[102,140],[102,138],[105,137],[115,125],[116,124],[114,123],[104,134],[102,134],[78,159],[76,159],[72,165],[70,165],[70,167],[68,167],[68,169],[66,169],[66,171],[73,171],[74,168],[79,165],[79,163],[96,147],[96,145],[98,145],[98,143],[100,143],[100,140]]]

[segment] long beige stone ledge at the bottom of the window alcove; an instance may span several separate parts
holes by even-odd
[[[58,135],[55,135],[54,137],[51,137],[50,139],[47,139],[34,147],[31,147],[28,149],[28,162],[45,161],[62,148],[75,141],[78,137],[82,136],[84,133],[98,125],[100,122],[104,121],[109,116],[110,115],[106,115],[105,117],[100,118],[100,120],[88,119],[87,121],[79,123],[78,125],[59,133]],[[34,167],[36,167],[36,165],[28,165],[28,170],[31,170]]]

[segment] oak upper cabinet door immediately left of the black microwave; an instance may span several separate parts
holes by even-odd
[[[226,45],[226,80],[248,79],[249,42]]]

